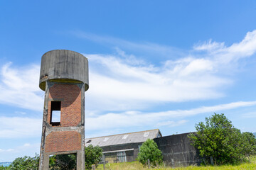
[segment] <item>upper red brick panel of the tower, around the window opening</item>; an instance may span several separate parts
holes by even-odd
[[[77,126],[81,121],[81,90],[74,84],[54,84],[50,87],[49,99],[61,100],[60,126]],[[48,101],[48,123],[50,123],[50,103]]]

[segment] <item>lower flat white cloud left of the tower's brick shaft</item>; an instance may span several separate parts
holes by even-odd
[[[0,117],[0,138],[40,136],[42,122],[36,118]]]

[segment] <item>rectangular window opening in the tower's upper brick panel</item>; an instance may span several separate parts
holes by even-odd
[[[51,101],[50,104],[50,125],[60,125],[60,101]]]

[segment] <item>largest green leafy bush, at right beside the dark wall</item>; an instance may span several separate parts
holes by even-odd
[[[196,134],[188,137],[203,157],[204,164],[240,164],[256,153],[256,139],[250,132],[241,133],[224,114],[196,124]],[[249,159],[250,160],[250,159]]]

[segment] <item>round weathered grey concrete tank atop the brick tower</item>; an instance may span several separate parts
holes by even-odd
[[[61,82],[79,82],[89,88],[88,60],[78,52],[53,50],[46,52],[41,59],[39,87],[46,89],[46,80]]]

